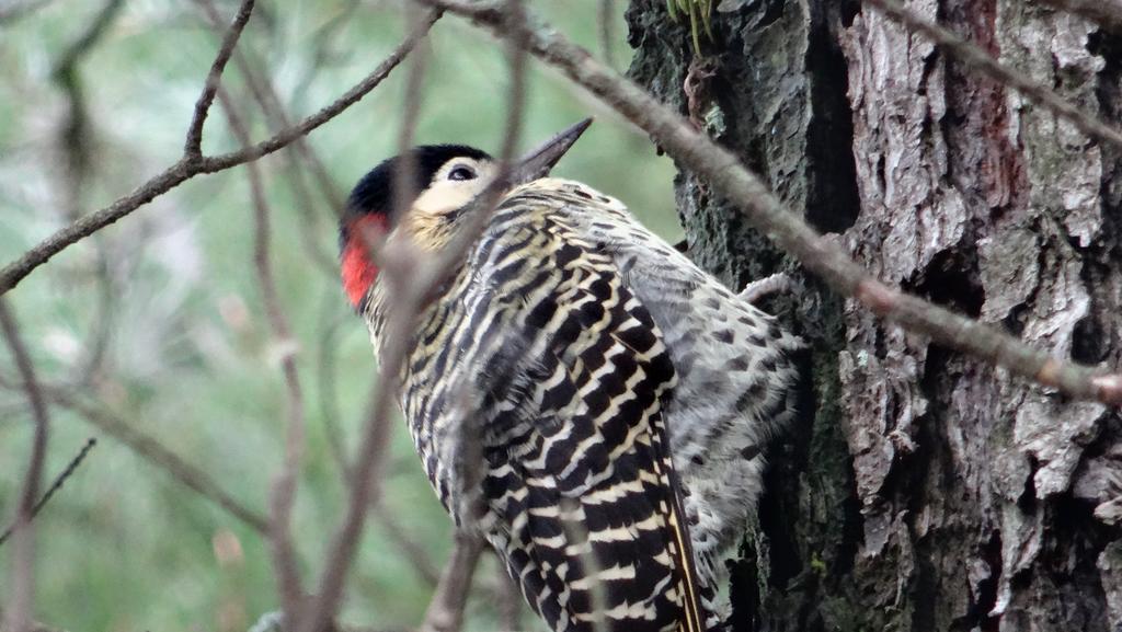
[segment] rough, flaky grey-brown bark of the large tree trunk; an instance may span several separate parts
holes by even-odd
[[[911,0],[1122,119],[1122,39],[1030,0]],[[1122,366],[1122,155],[848,0],[723,0],[696,58],[633,0],[631,74],[882,280]],[[690,253],[730,286],[798,266],[682,174]],[[885,327],[804,278],[812,345],[735,568],[737,630],[1122,630],[1122,421]]]

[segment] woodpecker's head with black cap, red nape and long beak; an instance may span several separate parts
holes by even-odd
[[[586,119],[558,134],[515,163],[505,178],[511,187],[549,175],[553,165],[591,125]],[[410,175],[408,191],[398,200]],[[378,278],[370,248],[380,237],[406,232],[420,248],[438,250],[460,226],[465,209],[500,175],[500,165],[486,152],[463,145],[423,145],[405,156],[394,156],[367,173],[355,186],[339,226],[340,266],[343,290],[356,308],[361,308]],[[397,204],[407,204],[395,217]]]

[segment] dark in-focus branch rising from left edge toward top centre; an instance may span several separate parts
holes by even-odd
[[[439,12],[431,13],[374,72],[319,112],[254,145],[250,149],[241,149],[219,156],[183,157],[128,195],[120,198],[101,210],[83,216],[77,221],[72,222],[44,239],[34,248],[24,253],[18,259],[0,269],[0,296],[18,285],[35,268],[47,263],[58,253],[130,214],[132,211],[136,211],[138,208],[151,202],[157,196],[167,193],[187,180],[200,174],[217,173],[249,161],[256,161],[261,156],[286,147],[295,139],[330,121],[377,88],[397,67],[410,51],[416,46],[417,42],[424,38],[439,17]]]

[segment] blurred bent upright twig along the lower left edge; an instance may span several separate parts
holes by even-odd
[[[39,496],[39,479],[43,477],[43,461],[47,454],[47,434],[50,430],[50,419],[47,415],[47,403],[43,397],[31,356],[19,332],[16,317],[8,308],[7,301],[0,299],[0,330],[4,341],[16,360],[16,369],[24,385],[28,404],[31,407],[31,420],[35,422],[35,434],[31,439],[31,456],[24,474],[22,491],[19,504],[16,505],[16,519],[12,522],[12,569],[11,599],[8,602],[8,629],[10,632],[27,632],[31,630],[31,610],[35,599],[35,501]]]

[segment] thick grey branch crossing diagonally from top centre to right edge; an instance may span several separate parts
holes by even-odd
[[[518,26],[502,2],[422,0],[470,18],[497,36],[513,38]],[[918,296],[905,294],[870,276],[836,244],[824,239],[776,198],[741,161],[668,109],[631,80],[598,63],[591,55],[549,28],[523,34],[536,57],[645,130],[679,164],[709,180],[736,204],[748,222],[767,235],[834,291],[859,301],[876,315],[935,342],[1004,367],[1010,373],[1052,386],[1078,400],[1122,404],[1122,375],[1052,358],[1017,338],[958,315]]]

